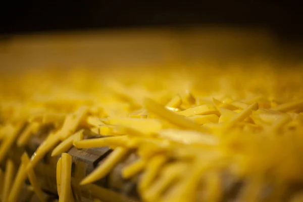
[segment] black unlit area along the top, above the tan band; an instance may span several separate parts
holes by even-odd
[[[303,39],[300,1],[7,1],[0,34],[124,27],[224,25],[268,28]]]

